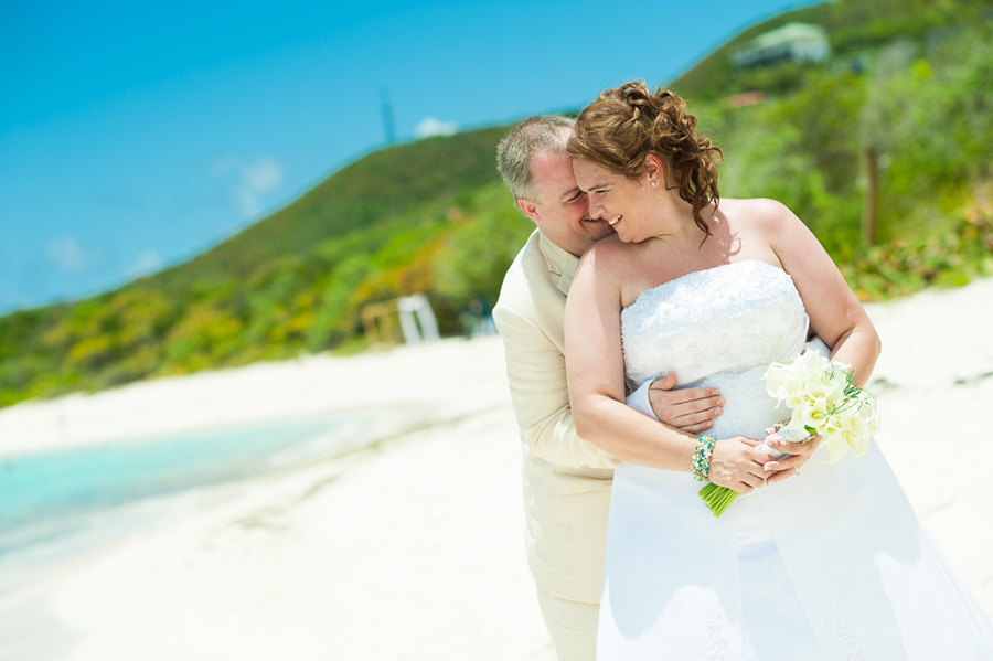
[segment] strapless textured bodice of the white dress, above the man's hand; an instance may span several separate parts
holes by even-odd
[[[675,372],[679,385],[768,366],[800,351],[809,320],[792,278],[765,262],[694,271],[621,311],[624,371],[636,385]]]

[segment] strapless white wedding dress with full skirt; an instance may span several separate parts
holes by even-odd
[[[808,333],[783,270],[749,260],[693,273],[644,291],[621,322],[634,385],[674,371],[680,386],[720,388],[717,438],[762,438],[788,417],[762,383]],[[826,458],[819,448],[801,476],[719,519],[688,472],[620,466],[598,660],[993,660],[993,626],[875,443]]]

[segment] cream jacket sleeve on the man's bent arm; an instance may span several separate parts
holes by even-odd
[[[493,311],[506,352],[506,376],[521,438],[542,459],[572,468],[613,468],[619,461],[576,436],[565,356],[532,321],[513,309]]]

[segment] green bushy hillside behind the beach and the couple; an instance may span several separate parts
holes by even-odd
[[[722,195],[783,201],[859,297],[960,285],[993,274],[991,9],[804,8],[746,30],[672,85],[724,149]],[[733,67],[733,53],[791,22],[826,29],[831,58]],[[362,350],[363,311],[414,292],[428,295],[444,334],[468,332],[533,227],[495,172],[508,128],[370,153],[185,264],[0,319],[0,406]]]

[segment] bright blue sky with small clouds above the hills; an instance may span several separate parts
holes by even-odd
[[[664,84],[802,0],[0,0],[0,313],[189,259],[385,143]]]

